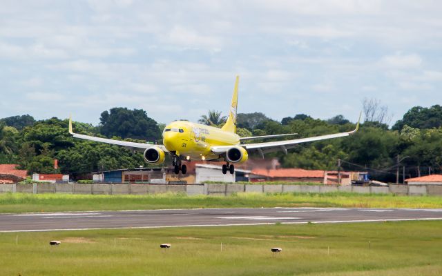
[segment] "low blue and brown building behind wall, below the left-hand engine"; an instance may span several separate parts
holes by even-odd
[[[92,177],[94,182],[104,183],[166,183],[166,172],[163,168],[106,170],[93,172]]]

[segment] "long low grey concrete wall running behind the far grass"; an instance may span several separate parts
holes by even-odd
[[[84,195],[145,195],[155,193],[186,193],[187,195],[231,195],[232,193],[361,193],[395,195],[438,195],[442,186],[390,185],[389,187],[363,186],[307,186],[259,184],[0,184],[0,193],[66,193]]]

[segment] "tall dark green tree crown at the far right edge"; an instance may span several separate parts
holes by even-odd
[[[412,128],[429,129],[442,126],[442,106],[435,105],[430,108],[414,106],[408,110],[403,118],[396,121],[393,130],[401,130],[404,126]]]

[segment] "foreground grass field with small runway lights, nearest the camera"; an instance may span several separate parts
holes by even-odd
[[[397,221],[2,233],[0,275],[441,275],[441,229]]]

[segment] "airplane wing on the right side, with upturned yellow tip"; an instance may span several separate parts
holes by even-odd
[[[330,135],[321,135],[316,137],[307,137],[307,138],[301,138],[301,139],[292,139],[292,140],[285,140],[285,141],[271,141],[271,142],[265,142],[265,143],[256,143],[256,144],[240,144],[238,146],[245,148],[247,151],[253,151],[256,150],[260,153],[262,157],[264,157],[265,153],[268,152],[275,152],[282,150],[287,155],[287,150],[290,148],[294,148],[296,144],[311,142],[311,141],[320,141],[325,139],[333,139],[338,137],[345,137],[354,134],[359,129],[359,123],[361,121],[361,115],[359,115],[358,124],[356,124],[356,128],[352,131],[348,132],[340,132]],[[230,148],[233,146],[214,146],[211,148],[211,151],[215,154],[223,154],[227,152]]]

